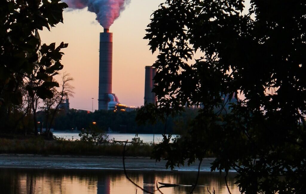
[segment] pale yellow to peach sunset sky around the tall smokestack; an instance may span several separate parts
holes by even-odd
[[[152,54],[148,40],[143,37],[151,14],[165,0],[131,0],[120,17],[110,27],[113,32],[113,93],[121,104],[140,107],[144,104],[145,66],[152,65],[158,53]],[[98,109],[99,90],[99,33],[103,27],[95,20],[95,13],[87,8],[66,9],[64,23],[48,31],[40,31],[42,43],[69,43],[62,51],[64,65],[61,72],[73,77],[74,96],[70,108]],[[58,81],[61,75],[55,77]]]

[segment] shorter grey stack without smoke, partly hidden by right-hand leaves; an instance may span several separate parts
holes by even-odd
[[[152,66],[146,66],[146,73],[145,73],[145,82],[144,82],[144,104],[153,103],[156,104],[157,97],[152,89],[154,87],[154,76],[156,74],[156,69]]]

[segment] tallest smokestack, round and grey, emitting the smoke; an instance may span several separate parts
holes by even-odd
[[[112,93],[113,33],[100,33],[99,110],[108,110],[108,94]]]

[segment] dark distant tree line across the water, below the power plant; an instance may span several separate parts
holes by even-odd
[[[100,129],[120,133],[149,133],[162,134],[165,131],[169,134],[182,134],[187,131],[188,125],[197,115],[198,109],[186,109],[181,115],[169,117],[167,123],[157,121],[155,124],[138,124],[135,119],[138,109],[132,112],[113,112],[113,111],[95,111],[85,112],[76,109],[69,109],[67,112],[61,111],[54,119],[51,128],[54,131],[77,131],[87,129],[95,122]],[[45,122],[46,115],[42,112],[39,114],[38,120]]]

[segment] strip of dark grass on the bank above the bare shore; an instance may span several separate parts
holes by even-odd
[[[0,138],[0,154],[122,156],[124,144],[93,145],[85,141],[46,140],[43,137],[26,139]],[[126,146],[125,156],[150,157],[153,146]]]

